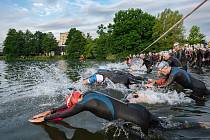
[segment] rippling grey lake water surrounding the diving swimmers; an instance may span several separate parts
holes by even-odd
[[[89,112],[82,112],[59,123],[35,125],[28,119],[38,112],[58,107],[69,94],[68,87],[89,90],[81,84],[98,68],[127,69],[122,63],[103,62],[5,62],[0,61],[0,138],[2,140],[67,140],[67,139],[140,139],[138,128],[131,133],[121,122],[107,122]],[[210,69],[191,70],[210,86]],[[142,72],[140,72],[142,73]],[[109,89],[96,88],[106,94],[125,99],[137,87],[108,84]],[[112,90],[112,88],[116,90]],[[96,90],[95,89],[95,90]],[[177,88],[178,90],[178,88]],[[150,112],[165,120],[165,130],[151,130],[146,139],[210,139],[210,100],[196,103],[177,93],[176,88],[162,93],[156,89],[138,89],[147,95],[143,103]],[[133,102],[138,103],[138,100]],[[202,124],[205,127],[201,127]],[[133,127],[132,127],[133,129]]]

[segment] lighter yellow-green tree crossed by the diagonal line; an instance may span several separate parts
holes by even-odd
[[[157,21],[153,27],[153,39],[157,39],[160,35],[164,34],[170,27],[172,27],[177,21],[182,18],[182,14],[179,11],[172,11],[171,9],[165,9],[158,14]],[[184,26],[181,22],[172,31],[170,31],[165,37],[160,39],[153,47],[157,51],[166,50],[172,48],[175,42],[182,43],[184,41]],[[152,49],[152,48],[151,48]]]

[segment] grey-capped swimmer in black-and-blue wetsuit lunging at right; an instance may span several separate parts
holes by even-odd
[[[162,61],[158,65],[158,72],[167,76],[166,81],[164,82],[164,84],[160,85],[160,87],[166,87],[175,81],[184,88],[193,90],[192,94],[196,97],[210,95],[210,90],[206,88],[204,82],[195,79],[183,69],[180,69],[178,67],[170,67],[165,61]],[[151,87],[151,85],[154,83],[155,82],[152,82],[150,84],[147,84],[146,86]]]

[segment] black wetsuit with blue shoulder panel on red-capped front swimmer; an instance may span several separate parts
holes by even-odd
[[[135,123],[141,127],[145,134],[147,134],[148,128],[159,125],[159,120],[144,106],[126,104],[98,92],[86,92],[83,99],[70,109],[66,105],[53,109],[54,114],[45,117],[45,121],[71,117],[82,111],[90,111],[106,120],[122,119]]]

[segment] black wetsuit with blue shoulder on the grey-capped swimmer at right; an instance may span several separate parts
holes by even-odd
[[[172,67],[171,72],[164,86],[171,84],[173,81],[184,88],[191,89],[197,96],[210,95],[210,90],[206,88],[204,82],[195,79],[188,72],[178,67]]]

